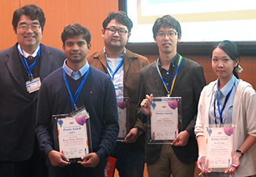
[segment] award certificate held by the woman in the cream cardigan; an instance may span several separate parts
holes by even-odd
[[[206,127],[206,135],[206,168],[231,167],[233,127]]]

